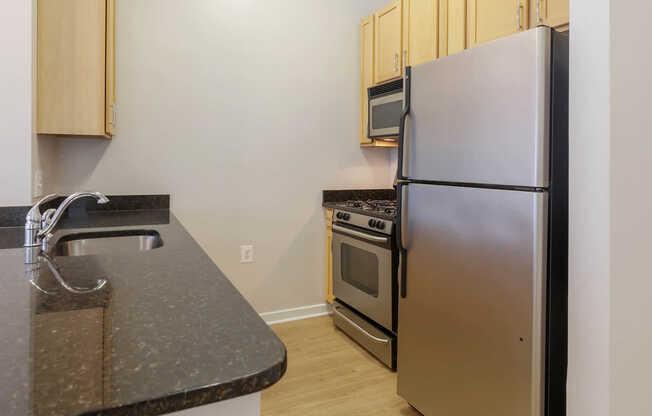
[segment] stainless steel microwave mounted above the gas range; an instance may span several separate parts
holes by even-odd
[[[367,89],[369,96],[370,139],[396,138],[403,112],[403,79],[386,82]]]

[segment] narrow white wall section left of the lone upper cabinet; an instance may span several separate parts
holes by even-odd
[[[0,206],[30,202],[32,3],[0,13]]]

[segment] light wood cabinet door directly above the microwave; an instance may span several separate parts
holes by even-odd
[[[402,75],[401,1],[395,0],[374,15],[374,80],[384,82]]]

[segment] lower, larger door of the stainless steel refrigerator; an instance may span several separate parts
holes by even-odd
[[[426,416],[542,415],[547,193],[406,196],[398,393]]]

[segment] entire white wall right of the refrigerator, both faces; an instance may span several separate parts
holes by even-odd
[[[650,13],[571,1],[570,416],[652,414]]]

